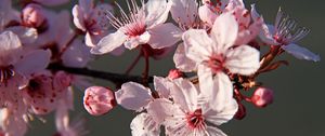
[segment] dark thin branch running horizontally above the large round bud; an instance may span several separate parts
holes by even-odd
[[[80,74],[80,76],[87,76],[103,80],[108,80],[114,83],[125,83],[125,82],[138,82],[143,83],[143,78],[140,76],[129,76],[129,74],[121,74],[121,73],[113,73],[113,72],[106,72],[106,71],[98,71],[98,70],[91,70],[88,68],[73,68],[73,67],[65,67],[58,64],[51,64],[48,69],[58,71],[63,70],[68,73],[73,74]],[[148,77],[147,82],[153,83],[153,77]]]

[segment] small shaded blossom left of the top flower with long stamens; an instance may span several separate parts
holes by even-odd
[[[94,5],[93,0],[79,0],[79,4],[74,6],[74,23],[86,32],[87,45],[94,46],[108,33],[107,11],[113,12],[113,6],[105,3]]]

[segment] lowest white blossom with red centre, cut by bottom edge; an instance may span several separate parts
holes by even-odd
[[[166,126],[167,135],[216,135],[225,134],[207,122],[221,125],[233,118],[237,111],[237,103],[234,98],[227,97],[227,100],[217,99],[219,105],[208,105],[208,101],[200,100],[200,91],[185,79],[176,79],[174,86],[170,90],[173,101],[166,98],[155,99],[148,105],[147,111],[156,123],[162,123]],[[219,91],[217,91],[219,92]],[[223,93],[217,93],[224,97]],[[227,95],[232,96],[232,92]],[[212,110],[219,109],[219,110]]]

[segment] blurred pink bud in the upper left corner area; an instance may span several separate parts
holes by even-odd
[[[41,5],[39,4],[28,4],[23,9],[23,22],[24,25],[29,27],[40,27],[46,21],[44,12]]]

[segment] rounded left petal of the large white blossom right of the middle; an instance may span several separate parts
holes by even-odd
[[[212,55],[213,41],[206,30],[190,29],[183,33],[185,54],[192,60],[202,63]]]

